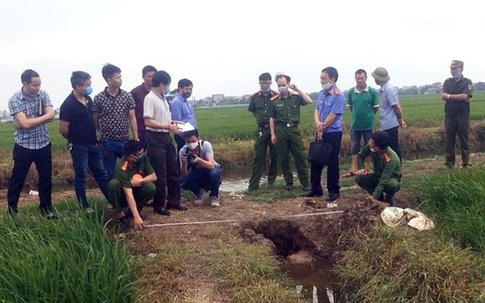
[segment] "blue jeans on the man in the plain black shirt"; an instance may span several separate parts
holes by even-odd
[[[99,189],[108,199],[108,173],[104,168],[103,156],[95,144],[73,144],[70,148],[74,167],[74,190],[76,198],[83,208],[89,207],[86,198],[86,176],[89,170],[93,173]],[[109,201],[109,200],[108,200]]]

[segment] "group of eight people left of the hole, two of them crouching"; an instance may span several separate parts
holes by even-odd
[[[180,80],[178,92],[169,104],[171,77],[165,71],[146,66],[142,71],[144,82],[131,93],[121,89],[119,67],[107,64],[102,75],[107,86],[93,100],[91,76],[83,71],[73,72],[72,92],[60,108],[59,132],[68,141],[76,198],[82,208],[92,212],[85,188],[88,169],[107,201],[118,211],[124,229],[131,226],[130,217],[135,228],[143,228],[140,212],[150,200],[160,215],[170,215],[170,209],[187,210],[180,203],[181,186],[193,191],[199,202],[201,189],[207,189],[211,205],[219,206],[221,170],[211,144],[199,140],[194,110],[187,102],[192,82]],[[39,173],[41,214],[55,219],[51,143],[46,128],[55,111],[47,92],[40,89],[37,72],[24,71],[21,81],[22,89],[9,102],[15,146],[8,210],[11,214],[18,212],[20,192],[34,162]],[[185,123],[190,123],[192,129],[182,132],[180,126]],[[170,133],[175,134],[178,148]]]

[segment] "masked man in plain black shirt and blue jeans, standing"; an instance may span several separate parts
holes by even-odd
[[[97,146],[96,127],[93,120],[91,76],[76,71],[71,76],[72,92],[61,105],[59,132],[68,140],[74,168],[76,198],[86,213],[91,213],[86,197],[86,177],[93,173],[99,189],[108,200],[108,174],[104,168],[103,155]],[[109,201],[109,200],[108,200]]]

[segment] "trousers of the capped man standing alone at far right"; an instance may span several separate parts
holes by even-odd
[[[456,136],[460,140],[461,161],[463,167],[470,165],[470,116],[445,116],[445,165],[448,167],[455,166],[455,145]]]

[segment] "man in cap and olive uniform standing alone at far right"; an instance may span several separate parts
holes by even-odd
[[[451,62],[451,78],[445,80],[441,100],[445,102],[445,165],[455,167],[456,136],[460,140],[462,167],[470,166],[470,99],[473,97],[473,83],[463,77],[463,62]]]

